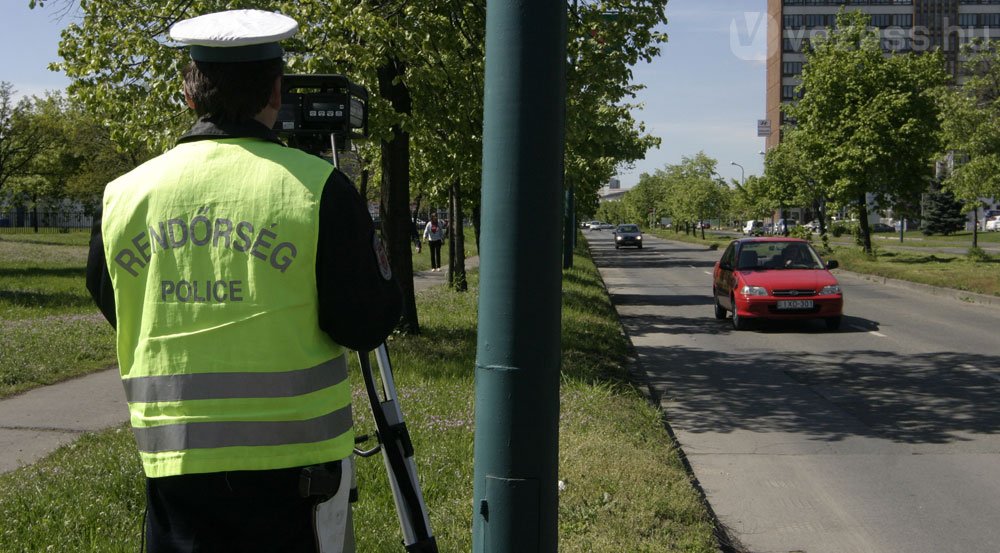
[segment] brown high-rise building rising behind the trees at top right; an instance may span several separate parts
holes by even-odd
[[[871,14],[887,52],[940,48],[956,78],[963,43],[974,37],[1000,39],[1000,0],[768,0],[768,148],[781,140],[781,105],[795,99],[804,47],[833,26],[841,8]]]

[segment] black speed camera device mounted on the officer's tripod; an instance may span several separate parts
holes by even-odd
[[[368,91],[343,75],[284,75],[274,130],[293,148],[336,156],[368,136]]]

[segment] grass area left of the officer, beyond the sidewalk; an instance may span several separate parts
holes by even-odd
[[[0,397],[115,363],[114,330],[87,292],[86,233],[0,240]]]

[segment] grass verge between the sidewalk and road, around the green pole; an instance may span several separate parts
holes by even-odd
[[[422,334],[389,342],[442,552],[471,549],[477,291],[472,272],[468,293],[418,294]],[[713,522],[659,411],[628,384],[627,341],[589,258],[576,256],[563,295],[560,551],[716,551]],[[351,374],[358,430],[370,431]],[[400,551],[381,460],[359,465],[358,551]],[[142,505],[131,434],[89,435],[0,476],[0,551],[136,551]]]

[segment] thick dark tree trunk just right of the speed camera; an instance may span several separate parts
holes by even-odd
[[[386,59],[378,68],[379,94],[389,100],[397,113],[410,113],[410,91],[402,81],[403,64]],[[394,83],[393,81],[396,80]],[[419,334],[417,301],[413,290],[413,257],[410,253],[410,134],[399,125],[392,127],[392,138],[381,143],[382,198],[380,215],[382,233],[389,250],[392,272],[403,292],[403,316],[399,328]]]

